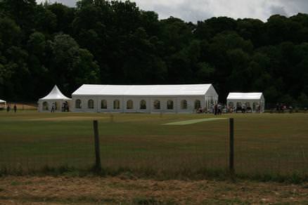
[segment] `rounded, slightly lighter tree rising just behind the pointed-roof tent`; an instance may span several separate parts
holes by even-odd
[[[99,82],[99,67],[94,56],[86,49],[79,48],[68,34],[58,34],[50,42],[53,63],[49,75],[53,82],[71,91],[82,84]]]

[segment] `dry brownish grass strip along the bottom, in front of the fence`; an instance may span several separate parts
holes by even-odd
[[[0,204],[307,204],[308,185],[127,178],[0,178]]]

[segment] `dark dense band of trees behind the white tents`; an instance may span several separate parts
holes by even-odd
[[[82,0],[75,8],[0,0],[0,97],[37,100],[54,84],[214,84],[308,106],[308,15],[158,19],[134,2]]]

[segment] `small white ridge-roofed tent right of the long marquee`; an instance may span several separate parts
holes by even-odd
[[[245,104],[252,108],[252,112],[264,112],[263,93],[229,93],[226,103],[229,107],[241,107]]]

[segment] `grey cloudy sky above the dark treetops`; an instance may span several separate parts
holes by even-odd
[[[41,2],[45,0],[37,0]],[[57,1],[75,6],[76,0]],[[170,15],[186,21],[197,22],[213,16],[231,18],[259,18],[266,21],[272,14],[295,15],[308,13],[308,0],[131,0],[142,10],[155,11],[159,18]]]

